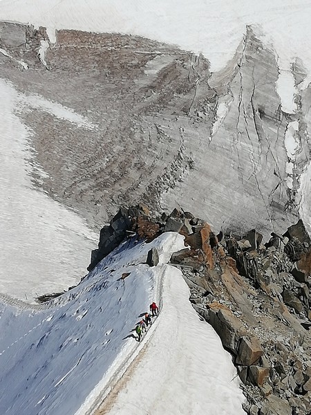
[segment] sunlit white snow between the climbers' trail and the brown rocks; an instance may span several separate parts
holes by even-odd
[[[188,297],[180,270],[167,266],[161,313],[142,357],[96,415],[245,413],[231,356]]]

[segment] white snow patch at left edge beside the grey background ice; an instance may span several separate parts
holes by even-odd
[[[97,234],[77,214],[35,190],[30,174],[35,172],[38,181],[46,174],[32,163],[31,131],[16,112],[37,107],[71,122],[84,120],[39,96],[25,97],[3,80],[0,96],[0,292],[31,302],[79,282]]]

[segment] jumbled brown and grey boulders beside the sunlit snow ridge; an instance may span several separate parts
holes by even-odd
[[[263,244],[256,230],[216,235],[208,223],[182,210],[158,219],[140,207],[122,212],[129,215],[131,232],[143,219],[140,237],[146,230],[149,241],[155,226],[156,234],[175,229],[185,235],[187,248],[174,253],[171,264],[182,270],[191,304],[232,353],[247,414],[310,414],[310,248],[303,224],[283,235],[272,233]],[[155,252],[148,257],[153,266]]]

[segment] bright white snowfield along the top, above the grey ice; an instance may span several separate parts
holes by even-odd
[[[260,24],[282,69],[300,56],[311,70],[310,13],[308,0],[1,0],[0,19],[44,26],[52,41],[55,29],[149,37],[203,53],[212,71],[233,57],[246,25]]]

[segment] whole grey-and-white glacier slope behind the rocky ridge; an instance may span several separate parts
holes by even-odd
[[[1,144],[8,162],[16,133],[19,160],[26,154],[1,172],[3,292],[12,294],[6,275],[19,253],[25,266],[15,267],[15,280],[23,288],[15,295],[32,299],[74,284],[95,241],[88,226],[98,230],[121,204],[180,205],[215,230],[256,227],[265,237],[299,215],[308,226],[308,1],[0,4],[0,19],[46,26],[53,42],[55,28],[131,35],[59,31],[51,44],[44,28],[0,25],[0,77],[9,82],[1,86]],[[17,222],[21,231],[13,232]],[[64,257],[77,268],[63,267]],[[30,273],[37,288],[27,292]],[[55,274],[62,282],[53,289]]]

